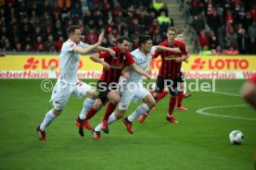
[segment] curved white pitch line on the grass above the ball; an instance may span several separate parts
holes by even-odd
[[[235,116],[235,115],[216,115],[216,114],[204,112],[205,110],[210,110],[210,109],[222,109],[222,108],[229,108],[229,107],[244,107],[244,106],[248,106],[248,105],[247,104],[236,104],[236,105],[220,105],[220,106],[204,107],[204,108],[198,109],[196,111],[196,113],[198,113],[200,115],[220,116],[220,117],[236,118],[236,119],[244,119],[244,120],[256,120],[256,118],[247,118],[247,117],[240,117],[240,116]]]

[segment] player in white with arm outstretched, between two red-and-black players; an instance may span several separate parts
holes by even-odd
[[[148,35],[139,36],[138,45],[139,48],[135,49],[131,54],[134,56],[135,64],[143,69],[146,69],[148,73],[150,72],[151,55],[155,52],[155,50],[180,53],[180,50],[177,48],[152,46],[151,38]],[[156,104],[156,101],[150,92],[143,87],[141,83],[142,76],[140,74],[133,69],[128,69],[125,74],[129,75],[129,79],[124,82],[123,79],[120,80],[123,82],[123,86],[121,85],[120,88],[122,97],[120,103],[118,104],[117,111],[109,116],[108,124],[122,118],[132,100],[134,100],[134,102],[143,101],[144,103],[139,105],[132,115],[122,119],[123,123],[127,127],[127,130],[133,134],[134,131],[132,128],[132,121],[134,118],[150,110]],[[101,128],[102,124],[99,124],[96,128],[94,128],[94,138],[96,140],[101,139]]]

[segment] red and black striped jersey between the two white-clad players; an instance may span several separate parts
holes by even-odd
[[[107,82],[118,82],[122,74],[122,69],[126,66],[134,64],[134,58],[129,51],[125,54],[121,53],[119,47],[115,46],[111,48],[116,52],[115,56],[109,55],[108,52],[100,52],[99,57],[104,58],[104,61],[109,64],[110,69],[103,68],[100,80]]]

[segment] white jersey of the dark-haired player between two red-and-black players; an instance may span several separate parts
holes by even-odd
[[[142,69],[146,69],[149,59],[153,53],[155,53],[156,49],[155,47],[152,47],[150,50],[150,53],[145,55],[142,51],[140,51],[138,48],[135,49],[133,52],[131,52],[131,55],[134,56],[134,62],[137,66],[141,67]],[[141,75],[137,73],[134,69],[129,71],[129,79],[128,82],[140,82]]]

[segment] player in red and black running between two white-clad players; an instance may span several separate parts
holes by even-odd
[[[110,115],[116,108],[117,103],[120,101],[120,95],[116,90],[124,67],[131,67],[138,74],[150,79],[149,74],[147,74],[145,70],[134,64],[133,56],[128,51],[129,44],[130,40],[127,37],[120,37],[117,40],[117,45],[112,47],[112,50],[116,52],[115,56],[111,56],[109,53],[91,55],[91,58],[96,61],[99,58],[104,58],[104,61],[109,64],[110,68],[109,70],[105,67],[103,68],[102,75],[97,82],[99,97],[96,99],[96,103],[94,103],[89,112],[81,112],[76,120],[76,125],[79,128],[79,134],[82,137],[84,136],[84,122],[96,115],[97,111],[99,111],[103,105],[110,101],[106,109],[106,115]],[[105,131],[106,133],[109,132],[107,127],[105,128]]]

